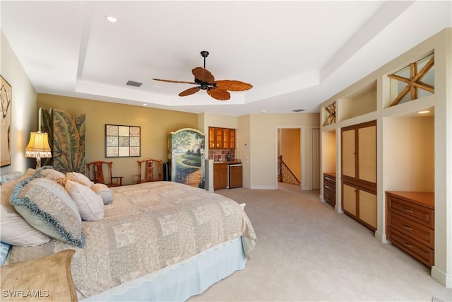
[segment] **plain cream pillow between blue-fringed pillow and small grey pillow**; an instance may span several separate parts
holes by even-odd
[[[104,218],[104,202],[96,192],[72,180],[66,180],[64,187],[76,202],[82,220],[97,221]]]

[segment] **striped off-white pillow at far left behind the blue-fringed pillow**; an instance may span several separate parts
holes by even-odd
[[[25,176],[20,176],[20,178]],[[20,246],[35,246],[48,243],[51,238],[30,226],[9,204],[9,197],[16,184],[20,182],[19,180],[5,182],[0,186],[0,239],[4,243]]]

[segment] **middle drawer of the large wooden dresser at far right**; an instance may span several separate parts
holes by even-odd
[[[429,248],[434,248],[434,231],[432,228],[422,226],[420,223],[416,223],[399,214],[394,214],[391,211],[388,211],[388,226],[427,245]]]

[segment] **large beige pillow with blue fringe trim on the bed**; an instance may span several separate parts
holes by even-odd
[[[34,228],[77,248],[85,245],[82,219],[64,187],[48,178],[19,182],[9,203]]]

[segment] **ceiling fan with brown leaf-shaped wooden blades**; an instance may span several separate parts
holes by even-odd
[[[204,58],[204,68],[196,67],[191,70],[191,73],[195,76],[194,82],[186,82],[186,81],[172,81],[172,80],[162,80],[162,79],[153,79],[154,81],[162,81],[169,83],[186,83],[192,85],[199,85],[196,87],[191,87],[179,93],[179,96],[186,96],[197,93],[198,91],[205,90],[208,95],[217,100],[229,100],[231,98],[231,94],[229,91],[247,91],[253,86],[249,83],[244,83],[236,80],[222,80],[215,81],[213,74],[210,73],[206,69],[206,57],[209,55],[209,52],[203,50],[201,52],[201,56]]]

